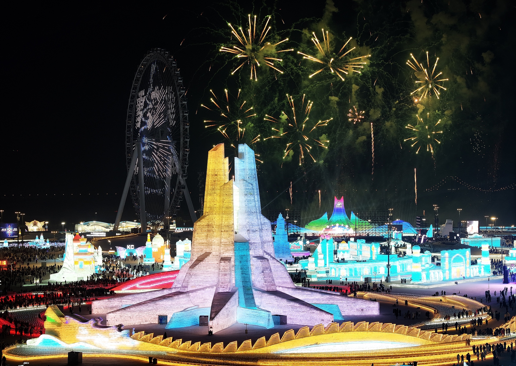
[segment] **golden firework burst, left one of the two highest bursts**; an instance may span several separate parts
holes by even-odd
[[[294,51],[294,49],[276,51],[276,46],[278,46],[280,43],[288,41],[288,38],[285,38],[284,40],[275,44],[272,44],[270,42],[264,42],[265,38],[267,37],[267,34],[269,33],[269,30],[271,29],[270,26],[267,28],[267,25],[269,24],[271,17],[267,18],[267,22],[263,27],[260,37],[256,38],[256,15],[254,15],[253,22],[251,22],[251,14],[249,14],[248,17],[249,28],[247,28],[245,32],[242,29],[242,27],[238,28],[241,37],[235,30],[235,28],[233,28],[233,26],[230,23],[228,23],[228,25],[231,28],[232,37],[235,36],[235,38],[238,40],[238,42],[240,42],[240,44],[233,45],[232,48],[222,46],[219,50],[220,52],[232,53],[235,55],[236,58],[245,58],[245,61],[242,62],[240,66],[238,66],[231,73],[231,75],[233,75],[238,69],[243,67],[246,63],[248,63],[251,69],[251,80],[253,79],[253,76],[255,81],[258,80],[256,76],[256,67],[260,67],[262,65],[268,66],[271,69],[274,69],[283,74],[283,71],[281,71],[275,66],[275,61],[281,62],[283,61],[283,59],[278,58],[276,56],[281,52]]]

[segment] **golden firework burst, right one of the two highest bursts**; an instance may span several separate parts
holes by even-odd
[[[315,35],[314,32],[312,32],[312,35],[313,35],[312,42],[314,42],[315,46],[317,47],[319,58],[304,54],[299,51],[298,51],[298,54],[303,55],[303,58],[305,58],[307,60],[321,63],[322,65],[324,65],[324,67],[317,70],[309,77],[312,77],[312,76],[318,74],[319,72],[322,72],[325,69],[328,69],[329,71],[331,71],[332,74],[333,73],[337,74],[338,77],[340,77],[341,80],[344,81],[343,74],[348,75],[350,72],[357,72],[360,74],[361,73],[360,70],[356,70],[356,69],[363,69],[364,67],[362,65],[366,64],[365,58],[371,56],[371,55],[364,55],[364,56],[353,57],[353,58],[348,58],[349,56],[346,57],[351,51],[353,51],[357,47],[352,47],[351,49],[349,49],[348,51],[344,52],[341,55],[341,53],[344,51],[344,49],[346,48],[347,44],[349,43],[349,41],[351,40],[352,37],[349,37],[349,39],[342,46],[340,51],[338,51],[337,53],[334,53],[330,50],[330,35],[329,35],[328,31],[326,31],[326,35],[325,35],[325,31],[324,31],[324,29],[322,29],[322,45],[319,42],[319,39],[317,38],[317,36]]]

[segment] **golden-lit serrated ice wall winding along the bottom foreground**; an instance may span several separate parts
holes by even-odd
[[[345,322],[330,323],[326,327],[322,324],[312,329],[302,327],[297,332],[287,330],[280,337],[275,333],[265,339],[262,337],[254,343],[246,340],[238,344],[236,341],[224,346],[222,342],[212,345],[211,342],[203,343],[172,338],[163,339],[163,336],[154,337],[153,333],[145,334],[137,332],[130,336],[132,329],[123,330],[113,327],[101,327],[95,324],[95,320],[84,321],[80,317],[71,317],[62,314],[57,306],[49,307],[46,312],[45,328],[47,333],[37,340],[55,337],[68,345],[83,342],[82,351],[85,356],[108,356],[96,351],[95,348],[112,350],[113,355],[123,354],[125,358],[137,358],[144,354],[157,355],[164,352],[166,359],[160,360],[160,364],[188,364],[198,365],[392,365],[396,362],[406,364],[417,360],[422,365],[444,365],[454,362],[459,354],[466,354],[471,345],[484,344],[486,341],[496,342],[497,338],[471,339],[471,335],[443,335],[432,333],[418,328],[392,323],[379,322]],[[513,322],[514,323],[514,322]],[[364,351],[343,352],[342,348],[335,348],[331,352],[313,353],[282,353],[292,352],[310,346],[325,346],[335,343],[355,342],[401,342],[411,344],[404,348],[390,348],[385,344],[381,349],[368,349]],[[27,343],[28,344],[28,343]],[[45,347],[41,343],[43,348]],[[340,346],[340,345],[339,345]],[[55,346],[54,346],[55,347]],[[72,346],[73,347],[73,346]],[[66,356],[69,347],[62,354],[51,357]],[[11,347],[4,351],[7,358],[21,359],[16,352],[17,347]],[[33,348],[34,349],[34,348]],[[117,352],[116,350],[120,350]],[[12,352],[12,353],[11,353]],[[134,353],[132,353],[134,352]],[[23,359],[39,359],[41,356],[23,356]],[[158,356],[159,357],[159,356]],[[491,356],[490,356],[491,357]]]

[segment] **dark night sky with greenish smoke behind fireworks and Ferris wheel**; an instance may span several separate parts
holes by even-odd
[[[283,61],[276,66],[282,74],[262,65],[258,81],[250,81],[245,65],[231,75],[240,59],[219,49],[237,44],[227,23],[245,29],[248,14],[257,15],[257,31],[271,15],[269,41],[289,38],[278,46],[295,50],[281,54]],[[432,204],[437,204],[441,223],[449,218],[456,224],[457,209],[462,208],[461,219],[478,219],[481,226],[486,215],[498,217],[497,225],[516,225],[514,15],[514,3],[503,0],[4,9],[4,222],[13,222],[15,211],[25,213],[26,221],[50,221],[51,230],[60,229],[61,221],[72,229],[73,222],[95,220],[95,213],[99,221],[115,221],[126,176],[131,85],[144,55],[162,47],[174,55],[188,89],[187,183],[196,209],[197,177],[205,171],[207,151],[225,142],[227,154],[234,154],[220,133],[204,128],[209,116],[200,104],[209,102],[209,89],[221,94],[224,88],[241,88],[241,98],[257,114],[245,122],[247,136],[241,142],[250,144],[258,134],[280,134],[272,128],[288,130],[285,122],[263,120],[265,115],[279,119],[288,110],[286,93],[296,103],[302,94],[314,102],[310,128],[333,118],[309,136],[330,141],[328,149],[311,150],[315,163],[304,154],[299,165],[298,150],[284,159],[285,138],[250,144],[263,161],[257,163],[264,214],[268,209],[299,209],[304,225],[331,213],[337,195],[344,196],[348,215],[351,210],[394,208],[396,219],[414,224],[415,216],[425,211],[433,223]],[[350,72],[342,81],[326,69],[308,77],[320,64],[297,52],[317,57],[311,35],[314,31],[322,42],[321,28],[330,32],[332,52],[352,37],[350,45],[356,49],[350,55],[372,55],[361,74]],[[442,84],[446,90],[439,100],[432,96],[415,102],[417,94],[410,93],[421,75],[406,62],[412,53],[426,64],[426,51],[430,68],[439,57],[436,70],[449,80]],[[353,106],[364,110],[364,118],[354,124],[348,120]],[[417,123],[416,115],[442,119],[433,156],[426,143],[416,154],[417,145],[404,141],[413,136],[406,126]],[[183,205],[179,216],[187,218]],[[122,219],[136,218],[128,199]]]

